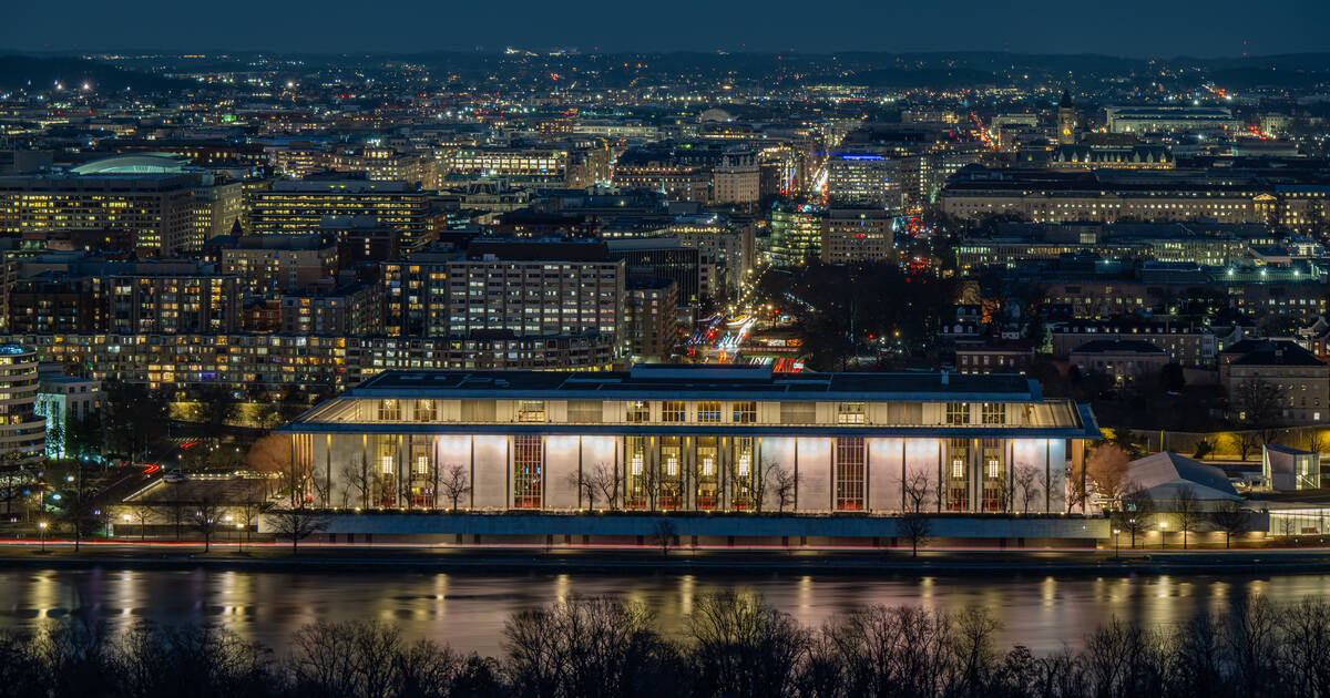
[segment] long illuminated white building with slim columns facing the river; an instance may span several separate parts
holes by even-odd
[[[278,431],[307,505],[471,511],[1063,512],[1099,437],[1025,376],[670,364],[391,371]]]

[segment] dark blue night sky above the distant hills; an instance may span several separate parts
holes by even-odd
[[[4,16],[11,51],[1330,51],[1330,0],[11,0]]]

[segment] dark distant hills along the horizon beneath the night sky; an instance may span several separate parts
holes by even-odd
[[[116,60],[93,60],[84,56],[117,56]],[[1008,53],[1008,52],[927,52],[888,53],[847,51],[837,53],[767,53],[767,52],[670,52],[670,53],[565,53],[535,57],[504,52],[435,51],[423,53],[130,53],[130,52],[16,52],[0,55],[0,89],[16,90],[60,82],[74,89],[88,82],[97,90],[124,89],[145,92],[200,90],[213,88],[192,80],[160,74],[164,65],[174,72],[223,72],[250,68],[258,57],[299,58],[305,65],[278,68],[289,77],[299,77],[322,68],[366,66],[382,62],[414,62],[432,70],[447,70],[459,81],[483,82],[496,66],[520,68],[525,61],[557,61],[569,66],[596,65],[596,80],[602,86],[626,86],[636,69],[622,69],[620,57],[649,61],[649,73],[693,74],[700,78],[722,74],[758,80],[773,86],[789,85],[789,73],[798,69],[798,78],[810,84],[862,85],[868,89],[955,89],[964,86],[1011,85],[1019,80],[1069,81],[1080,78],[1133,77],[1146,80],[1142,70],[1156,66],[1198,69],[1210,81],[1229,89],[1283,88],[1330,89],[1330,52],[1281,53],[1244,58],[1129,58],[1097,53]],[[613,60],[610,60],[613,58]],[[829,65],[829,64],[834,64]],[[1004,74],[1005,73],[1005,74]],[[1013,76],[1012,73],[1029,73]],[[539,73],[537,73],[539,74]],[[1149,80],[1154,80],[1152,76]],[[1176,78],[1173,78],[1176,80]]]

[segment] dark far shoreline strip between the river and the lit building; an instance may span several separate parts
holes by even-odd
[[[1253,574],[1330,572],[1327,549],[1262,550],[588,550],[588,549],[468,549],[468,548],[313,548],[298,556],[278,548],[233,550],[124,552],[68,549],[40,553],[31,546],[0,548],[3,568],[113,569],[235,569],[309,570],[321,573],[375,572],[614,572],[614,573],[798,573],[894,576],[1138,576]]]

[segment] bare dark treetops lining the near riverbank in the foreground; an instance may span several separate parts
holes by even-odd
[[[1111,622],[1083,649],[999,647],[986,612],[867,606],[825,626],[742,593],[697,601],[680,638],[641,606],[573,598],[519,612],[500,658],[408,642],[390,625],[319,622],[283,653],[205,628],[120,634],[66,621],[0,634],[16,698],[1129,698],[1330,695],[1330,605],[1262,598],[1169,629]]]

